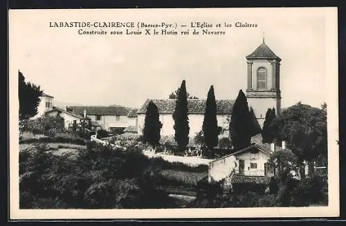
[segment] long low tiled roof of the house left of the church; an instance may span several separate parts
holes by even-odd
[[[73,113],[83,115],[127,115],[129,109],[125,106],[69,106]]]

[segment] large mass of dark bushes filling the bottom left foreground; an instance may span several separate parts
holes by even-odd
[[[19,156],[20,208],[166,208],[156,189],[158,169],[137,150],[89,144],[78,158],[55,156],[44,146]]]

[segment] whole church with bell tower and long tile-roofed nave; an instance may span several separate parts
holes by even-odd
[[[280,57],[263,42],[253,53],[246,56],[247,81],[246,98],[249,107],[252,106],[260,126],[263,126],[268,108],[276,110],[280,115]],[[241,88],[239,88],[241,89]],[[142,134],[145,121],[146,100],[137,111],[138,134]],[[161,135],[174,135],[173,112],[175,100],[152,100],[158,106],[160,121],[163,124]],[[217,121],[223,131],[228,130],[228,120],[232,113],[234,100],[217,100]],[[201,131],[206,108],[206,100],[188,100],[190,137]]]

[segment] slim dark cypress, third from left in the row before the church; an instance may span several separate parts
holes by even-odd
[[[211,150],[212,155],[214,155],[214,147],[216,147],[219,142],[219,127],[217,126],[217,105],[214,86],[210,86],[208,92],[202,129],[206,146]]]

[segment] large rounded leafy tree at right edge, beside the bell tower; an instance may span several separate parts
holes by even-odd
[[[273,126],[300,162],[327,155],[326,111],[299,102],[283,111]]]

